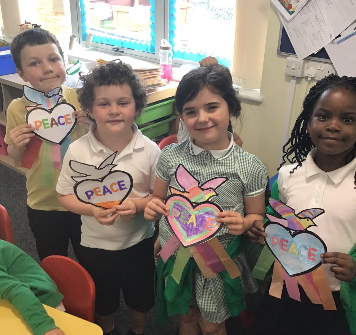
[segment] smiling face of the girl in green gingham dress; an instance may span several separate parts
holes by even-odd
[[[197,97],[183,105],[179,118],[200,148],[217,150],[226,149],[229,145],[229,106],[223,97],[208,88],[201,89]]]

